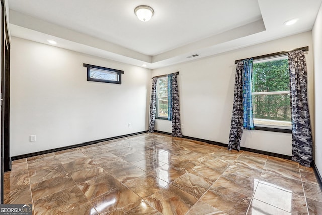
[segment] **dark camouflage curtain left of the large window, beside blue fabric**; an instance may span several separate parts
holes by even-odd
[[[244,63],[239,61],[235,76],[235,93],[233,96],[228,150],[240,150],[240,140],[243,134],[243,67]]]

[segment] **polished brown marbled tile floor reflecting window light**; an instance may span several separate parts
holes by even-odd
[[[34,214],[322,214],[312,168],[159,133],[16,160],[4,187]]]

